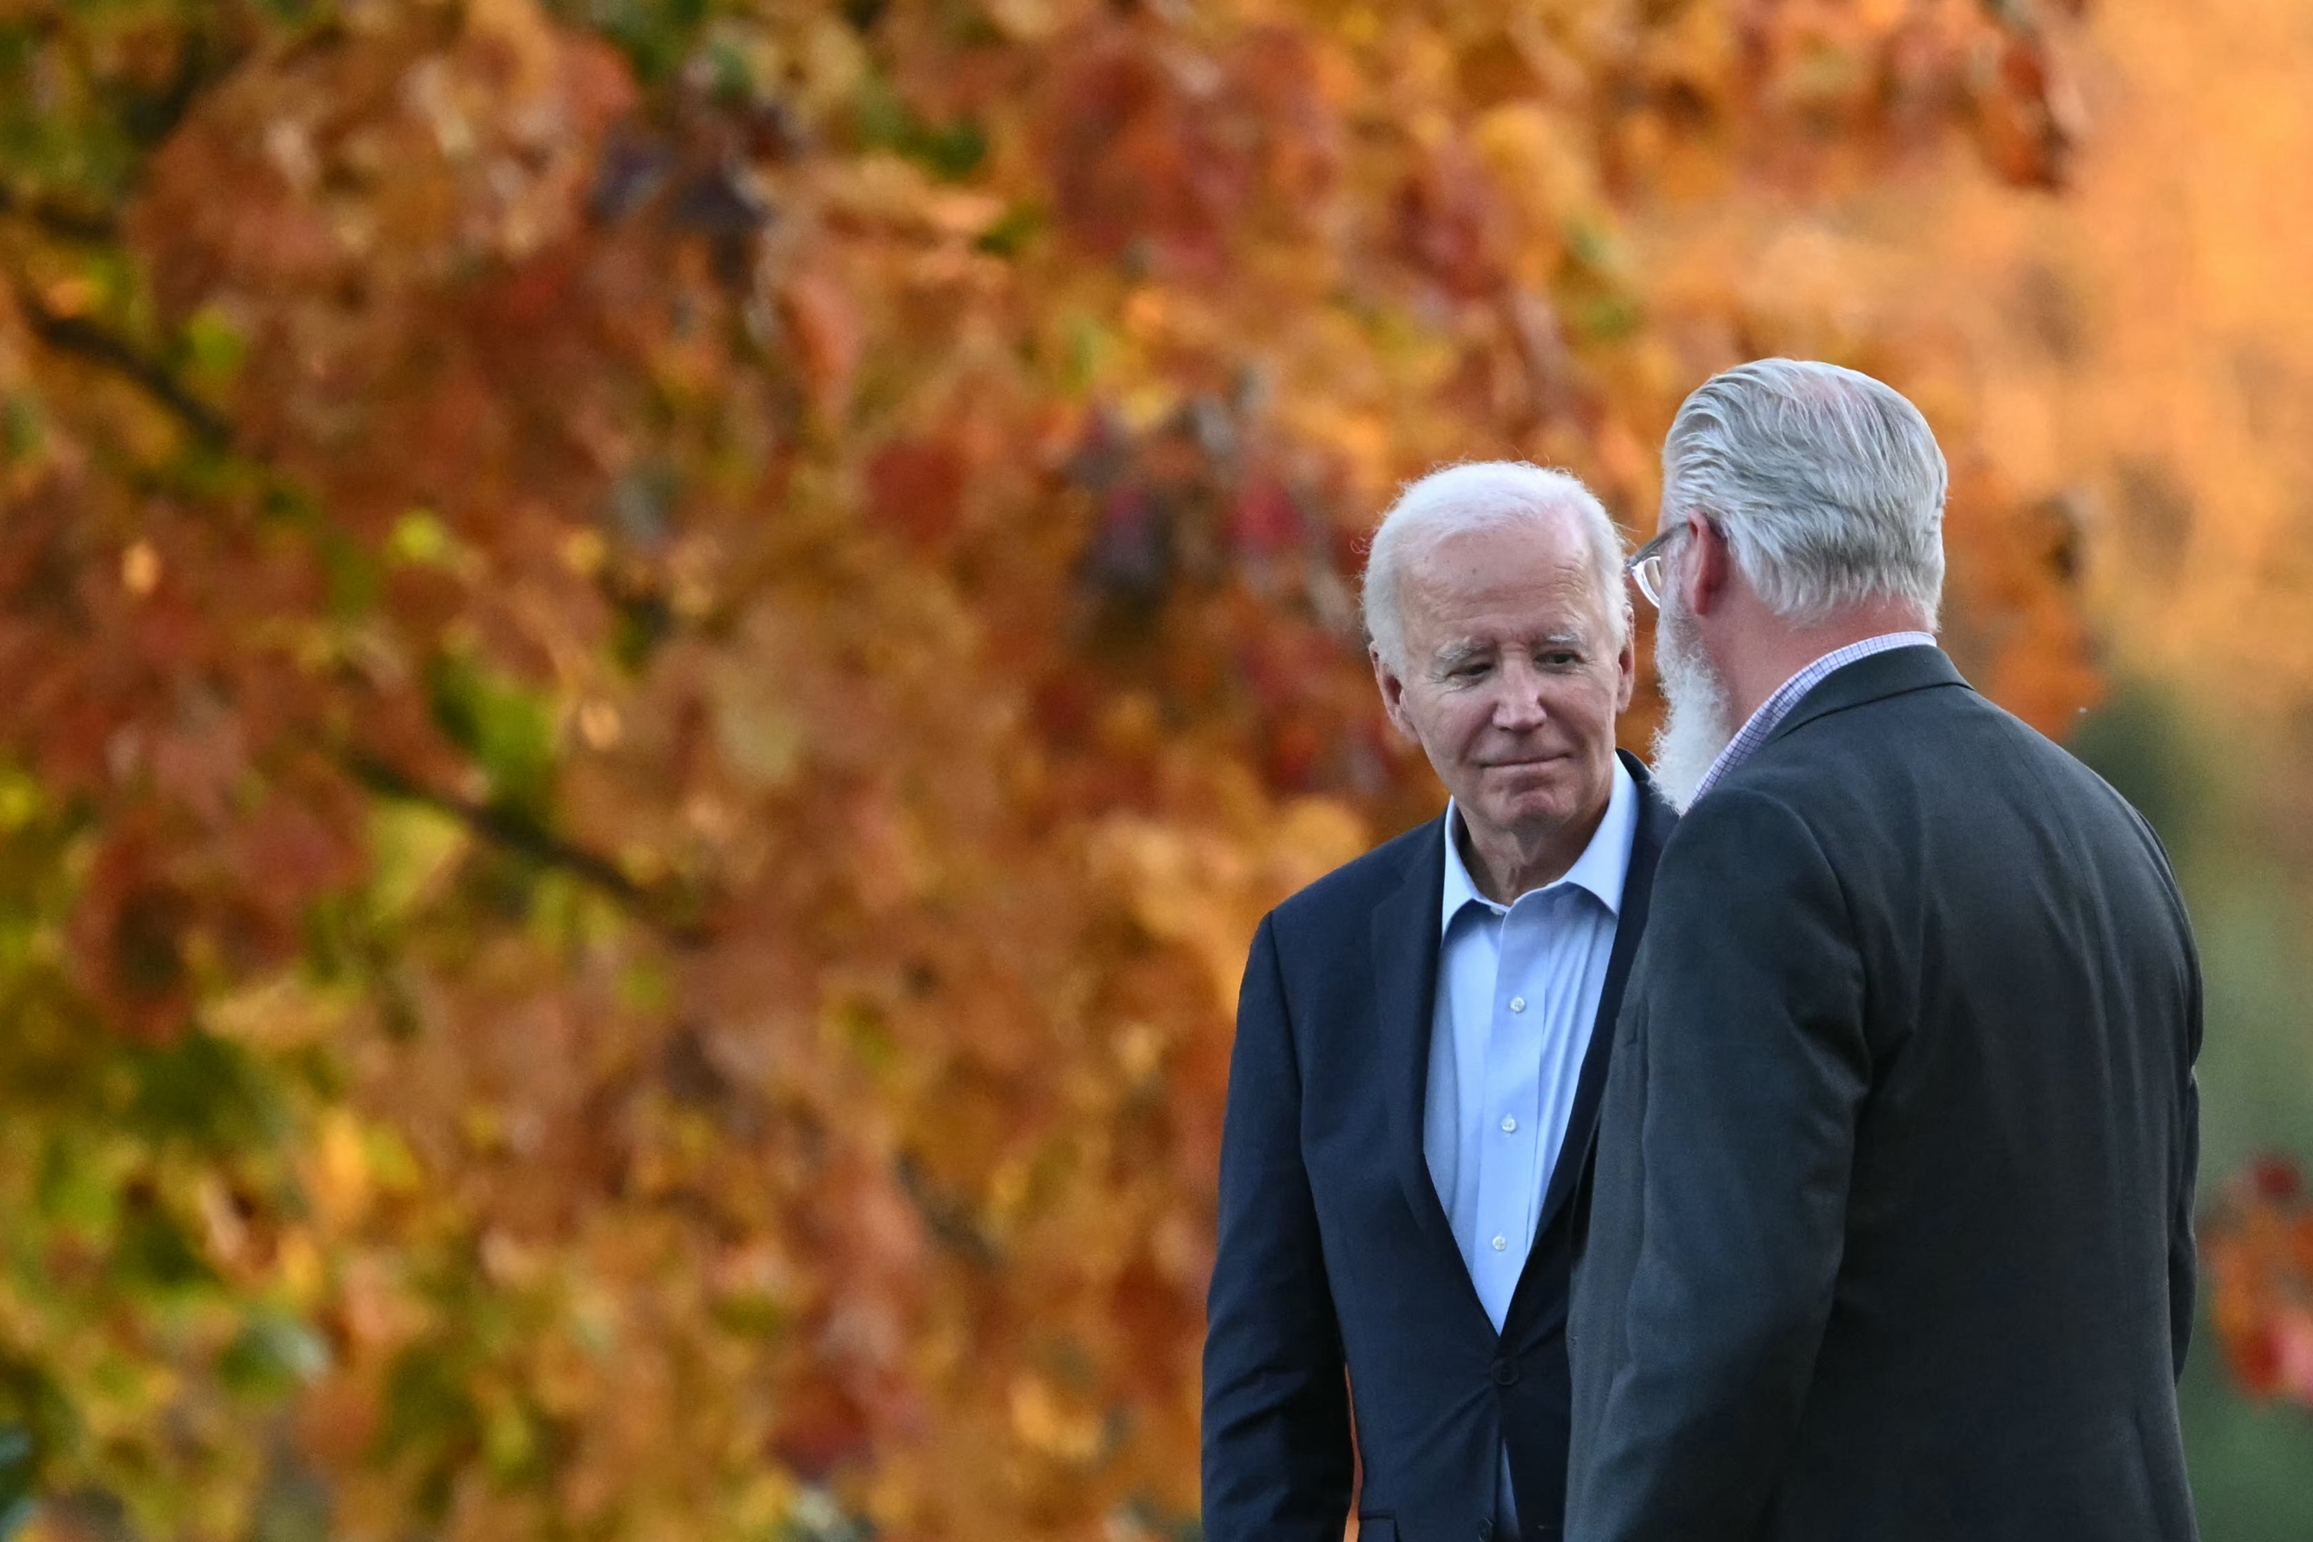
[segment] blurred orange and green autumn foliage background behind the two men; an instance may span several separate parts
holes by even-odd
[[[2179,851],[2304,1537],[2313,23],[2167,9],[0,0],[0,1535],[1194,1537],[1365,529],[1811,354]]]

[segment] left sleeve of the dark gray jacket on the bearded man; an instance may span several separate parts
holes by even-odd
[[[1742,788],[1663,851],[1647,957],[1647,1073],[1619,1135],[1640,1147],[1638,1262],[1566,1535],[1739,1542],[1832,1309],[1871,1080],[1864,969],[1813,832]]]

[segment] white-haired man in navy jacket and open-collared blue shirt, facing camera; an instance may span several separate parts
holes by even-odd
[[[1614,749],[1621,569],[1598,499],[1531,465],[1436,472],[1374,534],[1374,677],[1450,802],[1254,936],[1210,1542],[1339,1542],[1358,1456],[1365,1542],[1559,1535],[1568,1200],[1675,818]]]

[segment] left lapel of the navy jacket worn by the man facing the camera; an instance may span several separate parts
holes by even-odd
[[[1429,1020],[1439,978],[1439,906],[1446,902],[1446,821],[1406,862],[1404,883],[1374,906],[1374,1026],[1381,1038],[1381,1084],[1390,1105],[1390,1161],[1416,1221],[1462,1269],[1462,1248],[1439,1202],[1422,1154],[1429,1098]]]

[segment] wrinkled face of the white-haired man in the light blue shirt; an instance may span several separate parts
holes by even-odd
[[[1406,670],[1390,721],[1420,742],[1473,835],[1540,837],[1605,809],[1631,645],[1614,640],[1573,516],[1446,536],[1399,580]]]

